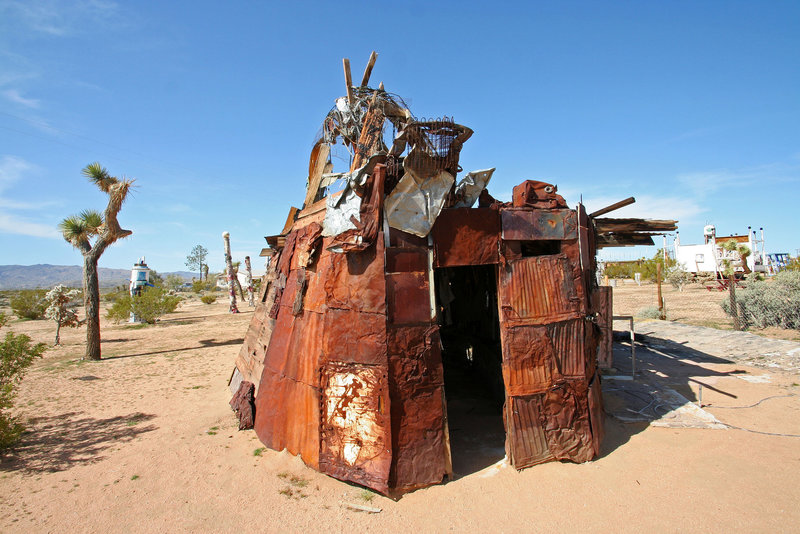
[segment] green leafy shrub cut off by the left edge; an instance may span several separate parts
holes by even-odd
[[[0,313],[0,328],[7,322],[5,314]],[[32,345],[31,338],[25,334],[7,332],[0,340],[0,451],[13,445],[24,430],[10,411],[14,405],[17,385],[25,370],[35,358],[41,357],[45,348],[44,343]]]

